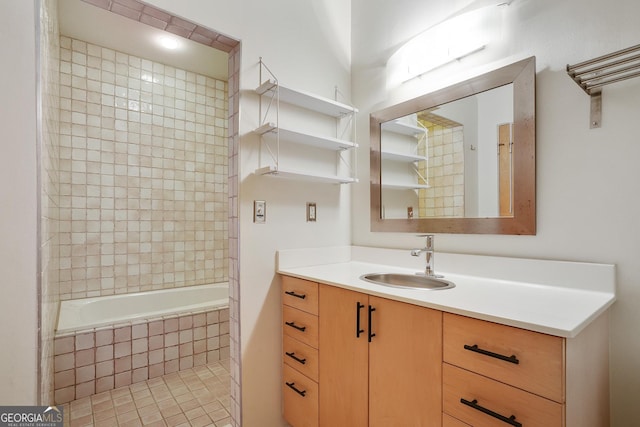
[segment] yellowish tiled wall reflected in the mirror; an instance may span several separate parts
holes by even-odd
[[[459,124],[423,122],[429,131],[431,188],[418,192],[419,214],[424,217],[464,217],[464,143]]]

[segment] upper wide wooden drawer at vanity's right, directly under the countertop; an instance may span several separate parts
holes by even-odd
[[[563,338],[450,313],[443,332],[445,362],[564,403]]]

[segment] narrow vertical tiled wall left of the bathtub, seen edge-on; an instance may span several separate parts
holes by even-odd
[[[38,3],[38,147],[40,151],[40,404],[53,402],[53,337],[60,300],[59,280],[59,33],[56,1]]]

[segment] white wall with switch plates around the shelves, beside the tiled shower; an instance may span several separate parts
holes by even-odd
[[[242,0],[150,3],[242,41],[240,134],[240,282],[243,425],[280,426],[281,308],[275,277],[280,248],[349,244],[348,186],[290,182],[252,174],[258,166],[258,60],[290,87],[333,97],[350,93],[350,2]],[[305,123],[296,128],[304,129]],[[254,224],[253,200],[266,200],[267,223]],[[305,220],[316,202],[318,221]]]

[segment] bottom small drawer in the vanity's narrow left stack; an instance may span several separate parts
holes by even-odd
[[[295,427],[318,425],[318,384],[284,365],[284,418]]]

